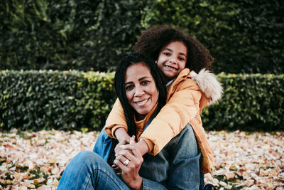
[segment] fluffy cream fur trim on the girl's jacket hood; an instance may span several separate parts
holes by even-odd
[[[223,87],[217,80],[216,75],[210,73],[209,70],[205,70],[205,68],[202,68],[198,74],[192,70],[190,75],[192,76],[192,80],[200,86],[200,90],[209,99],[208,105],[212,105],[221,99]]]

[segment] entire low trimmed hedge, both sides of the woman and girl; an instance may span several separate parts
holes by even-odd
[[[284,130],[284,75],[218,75],[222,100],[204,109],[206,130]],[[116,98],[114,73],[0,71],[1,130],[102,129]]]

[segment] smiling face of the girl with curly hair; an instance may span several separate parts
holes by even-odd
[[[160,50],[158,67],[171,80],[178,76],[187,63],[187,47],[182,41],[172,41]]]

